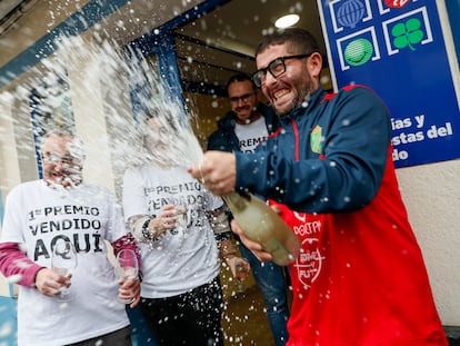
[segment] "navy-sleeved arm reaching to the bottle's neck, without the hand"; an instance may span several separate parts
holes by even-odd
[[[300,154],[296,161],[293,155],[283,156],[282,148],[271,147],[254,154],[236,152],[233,187],[304,212],[348,212],[369,204],[380,188],[389,155],[388,110],[362,87],[344,90],[336,98],[330,106],[334,115],[323,123],[321,156],[302,159]]]

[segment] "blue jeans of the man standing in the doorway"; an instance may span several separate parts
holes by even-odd
[[[284,346],[288,340],[286,324],[289,318],[289,308],[283,267],[272,261],[261,263],[241,241],[239,241],[239,248],[241,257],[251,264],[256,283],[262,291],[274,345]]]

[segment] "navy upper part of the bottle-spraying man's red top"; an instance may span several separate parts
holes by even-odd
[[[304,212],[347,212],[372,200],[386,170],[391,122],[370,89],[328,95],[320,88],[281,123],[256,152],[236,152],[238,189]]]

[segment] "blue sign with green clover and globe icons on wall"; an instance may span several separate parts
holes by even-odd
[[[390,109],[396,167],[460,157],[460,113],[434,0],[322,0],[339,88]]]

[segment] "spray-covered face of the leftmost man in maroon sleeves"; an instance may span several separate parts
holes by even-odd
[[[81,146],[76,145],[72,136],[50,135],[44,139],[41,149],[44,181],[64,188],[82,181],[83,154]]]

